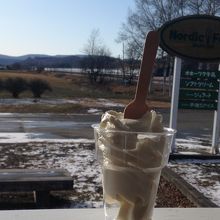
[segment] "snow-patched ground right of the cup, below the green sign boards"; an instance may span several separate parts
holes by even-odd
[[[211,138],[176,138],[176,152],[184,155],[210,155]],[[170,162],[169,167],[220,206],[220,159],[181,159]]]

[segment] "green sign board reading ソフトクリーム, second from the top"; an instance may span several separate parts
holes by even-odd
[[[181,79],[180,88],[218,90],[217,80]]]

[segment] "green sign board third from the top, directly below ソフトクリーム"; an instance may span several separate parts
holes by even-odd
[[[180,89],[180,100],[218,100],[218,92]]]

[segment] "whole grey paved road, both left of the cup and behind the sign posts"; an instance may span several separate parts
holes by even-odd
[[[163,114],[164,124],[169,124],[169,110]],[[100,121],[100,115],[90,114],[0,114],[0,132],[35,133],[40,138],[93,138],[91,125]],[[211,136],[212,111],[180,110],[178,136]]]

